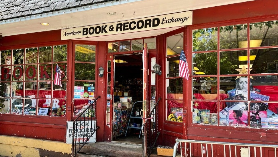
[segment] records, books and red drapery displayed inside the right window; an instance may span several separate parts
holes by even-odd
[[[217,88],[217,82],[212,84],[206,82],[206,85],[210,84],[210,87],[203,86],[202,89],[209,89],[209,92],[193,93],[195,101],[192,102],[192,122],[219,126],[277,129],[277,76],[275,82],[264,84],[257,78],[248,80],[247,77],[238,77],[236,79],[238,80],[234,82],[222,83],[220,81],[220,91],[223,92],[219,94],[211,92],[212,86]],[[246,82],[247,85],[243,85],[246,87],[240,85],[243,84],[242,82]],[[230,88],[232,85],[226,86],[227,83],[232,84],[234,88]],[[248,85],[249,88],[247,88]],[[194,87],[197,88],[197,86]]]

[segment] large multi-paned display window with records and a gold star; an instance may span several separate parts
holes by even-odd
[[[278,128],[277,21],[192,30],[192,123]]]

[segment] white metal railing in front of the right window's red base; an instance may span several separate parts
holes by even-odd
[[[217,145],[217,146],[216,146]],[[278,145],[269,144],[244,144],[244,143],[229,143],[229,142],[210,142],[200,140],[181,140],[176,139],[174,146],[173,157],[176,157],[177,148],[180,147],[181,156],[185,157],[214,157],[214,156],[229,156],[229,157],[277,157]],[[273,154],[266,154],[262,148],[271,148]],[[219,151],[221,149],[221,151]],[[273,150],[274,149],[274,150]],[[240,151],[237,153],[237,150]],[[199,153],[196,153],[199,152]],[[216,155],[218,153],[218,155]],[[222,155],[219,155],[221,153]],[[270,153],[270,152],[269,152]],[[194,155],[195,154],[195,155]],[[197,154],[197,156],[196,156]]]

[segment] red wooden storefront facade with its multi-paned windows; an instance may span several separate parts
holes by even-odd
[[[21,96],[19,99],[23,104],[27,104],[24,102],[25,98],[33,98],[32,104],[36,104],[33,105],[36,113],[32,115],[31,112],[26,114],[16,111],[13,114],[12,110],[6,110],[6,113],[1,112],[0,134],[65,142],[67,121],[74,120],[77,106],[86,104],[90,99],[89,96],[83,98],[84,100],[82,97],[75,97],[78,94],[75,94],[74,87],[92,84],[92,87],[95,87],[92,94],[101,96],[97,100],[99,106],[95,111],[97,126],[100,126],[96,133],[96,140],[97,142],[113,141],[113,111],[107,110],[107,102],[113,104],[114,88],[117,86],[114,82],[116,76],[114,76],[113,59],[117,55],[142,51],[132,48],[121,51],[119,47],[118,50],[111,49],[110,45],[117,42],[120,45],[119,43],[123,41],[130,41],[130,47],[132,47],[132,41],[142,40],[141,45],[155,43],[155,46],[149,49],[149,64],[146,66],[150,71],[149,75],[152,75],[151,71],[153,71],[151,58],[155,58],[155,62],[161,66],[162,71],[162,75],[154,74],[155,84],[150,83],[148,87],[148,93],[155,95],[154,100],[161,98],[156,122],[160,131],[157,144],[173,146],[176,138],[275,144],[278,142],[275,138],[277,136],[275,117],[278,114],[278,105],[276,105],[278,103],[276,94],[278,90],[278,58],[276,58],[278,36],[275,34],[278,32],[276,29],[278,12],[275,4],[275,0],[256,0],[192,9],[192,25],[176,27],[167,33],[161,31],[163,33],[155,36],[142,35],[142,37],[120,39],[114,37],[115,40],[107,41],[102,38],[97,40],[97,37],[90,40],[87,40],[89,38],[61,40],[63,31],[61,29],[4,36],[0,40],[1,58],[5,56],[2,55],[3,53],[14,58],[11,58],[11,64],[5,61],[7,57],[3,62],[1,59],[1,85],[9,84],[10,88],[10,96],[3,96],[2,93],[1,99],[3,101],[9,99],[10,107],[13,108],[11,106],[13,99],[18,99],[15,96]],[[161,15],[164,14],[166,13],[161,13]],[[146,31],[141,33],[146,33]],[[180,36],[181,40],[176,38],[177,36]],[[252,45],[255,40],[259,40],[260,44]],[[189,68],[188,80],[179,77],[177,71],[179,64],[176,61],[179,60],[182,49],[174,50],[174,46],[169,45],[171,41],[176,43],[175,48],[183,47]],[[48,47],[51,48],[48,49]],[[83,47],[83,50],[80,47]],[[31,48],[32,51],[29,50]],[[34,48],[37,49],[36,54],[38,54],[36,61],[33,61],[32,57],[27,57],[28,53],[34,54]],[[81,52],[85,51],[84,48],[86,48],[86,53],[83,53],[86,55],[82,55]],[[171,51],[168,48],[171,48]],[[19,57],[21,50],[25,56],[20,58],[23,59],[22,62],[15,63],[15,57]],[[173,51],[175,53],[171,54],[170,52]],[[40,53],[46,56],[48,52],[51,53],[49,59],[40,58]],[[93,52],[93,55],[90,52]],[[242,56],[246,60],[240,60]],[[61,86],[54,85],[56,63],[66,75],[62,75]],[[90,71],[86,67],[92,67],[94,70]],[[99,67],[105,69],[103,77],[98,75]],[[79,74],[77,69],[79,72],[81,69],[86,70]],[[247,81],[248,87],[245,89],[246,99],[230,99],[229,101],[227,98],[237,95],[232,95],[231,92],[240,93],[238,90],[242,90],[237,87],[239,78],[246,77],[250,78]],[[149,79],[152,80],[152,76],[149,76]],[[50,86],[47,85],[48,81],[51,81]],[[17,85],[22,84],[22,87],[18,86],[13,90],[13,82],[17,82]],[[32,88],[34,82],[36,86]],[[50,90],[40,90],[45,87]],[[85,87],[90,87],[90,85]],[[155,88],[155,93],[151,91],[151,87]],[[261,99],[255,99],[256,94],[254,96],[251,93],[263,96]],[[12,96],[12,94],[15,95]],[[107,94],[111,94],[111,98],[107,98]],[[51,103],[47,103],[49,101]],[[232,111],[240,109],[229,107],[238,102],[246,105],[241,111],[243,122],[233,124],[236,117],[232,117],[235,115]],[[267,108],[255,110],[253,108],[255,103],[262,103]],[[44,105],[50,106],[50,104],[52,109],[49,108],[49,113],[39,115],[39,107],[44,108]],[[58,105],[57,108],[61,108],[60,112],[65,111],[65,114],[57,115],[57,110],[53,110],[54,104]],[[223,112],[230,116],[223,116]],[[170,114],[174,115],[174,119],[169,118]],[[259,126],[252,124],[254,122],[252,118],[256,114],[261,116]],[[267,151],[265,150],[266,154]]]

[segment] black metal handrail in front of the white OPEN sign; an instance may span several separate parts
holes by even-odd
[[[86,136],[86,140],[84,141],[84,138],[85,136],[83,136],[83,140],[81,142],[81,140],[79,140],[77,143],[77,139],[75,139],[75,132],[77,132],[77,122],[84,122],[85,123],[85,120],[87,122],[89,122],[89,120],[91,120],[91,123],[92,123],[92,120],[95,119],[96,117],[96,107],[95,107],[95,113],[93,115],[93,112],[91,112],[91,114],[89,114],[89,110],[93,110],[93,104],[96,105],[96,101],[97,99],[99,99],[100,96],[98,96],[89,106],[87,106],[85,108],[85,110],[83,112],[81,112],[81,114],[79,114],[79,116],[73,121],[73,134],[72,134],[72,137],[73,137],[73,141],[72,141],[72,157],[75,157],[77,155],[77,153],[81,150],[81,148],[88,142],[88,140],[93,136],[93,134],[97,131],[97,129],[99,129],[99,126],[97,126],[93,132],[91,132],[90,136]],[[88,113],[88,114],[87,114]],[[87,116],[86,116],[87,114]],[[75,124],[76,123],[76,124]],[[95,127],[95,126],[93,126]],[[92,124],[91,124],[91,128],[92,128]],[[90,130],[91,130],[90,128]],[[81,126],[80,126],[80,129],[81,129]],[[85,134],[85,129],[83,129],[83,135]],[[77,145],[79,145],[79,147],[77,148]],[[78,150],[77,150],[78,149]]]

